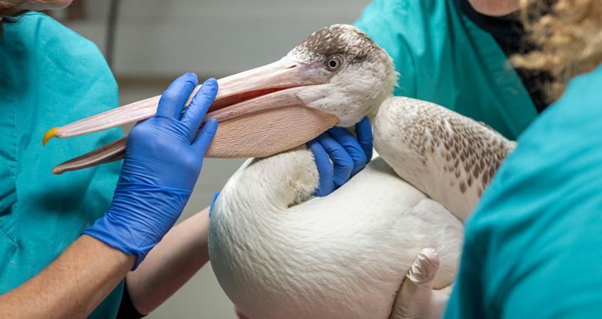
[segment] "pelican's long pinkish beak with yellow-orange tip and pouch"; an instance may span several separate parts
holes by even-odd
[[[267,157],[302,145],[338,123],[338,117],[307,105],[298,97],[308,85],[328,82],[330,74],[312,64],[284,57],[266,66],[218,80],[217,98],[205,120],[220,122],[207,157]],[[189,98],[199,90],[197,87]],[[55,127],[43,137],[73,137],[106,130],[155,115],[160,96]],[[119,160],[125,138],[58,165],[55,174]]]

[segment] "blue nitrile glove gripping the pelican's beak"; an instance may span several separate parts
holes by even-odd
[[[134,127],[110,209],[83,232],[136,256],[134,268],[182,213],[217,130],[210,120],[195,138],[217,93],[214,79],[182,113],[197,83],[197,75],[182,75],[163,93],[157,115]]]

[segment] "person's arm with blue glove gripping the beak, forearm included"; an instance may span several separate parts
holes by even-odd
[[[0,296],[0,318],[85,318],[172,228],[217,130],[209,120],[196,134],[216,80],[207,80],[184,110],[197,84],[189,73],[165,90],[157,116],[128,137],[110,209],[42,273]]]

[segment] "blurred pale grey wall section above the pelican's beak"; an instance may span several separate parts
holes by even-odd
[[[368,0],[122,0],[118,75],[235,73],[274,61],[318,28],[353,23]],[[108,0],[71,27],[104,47]]]

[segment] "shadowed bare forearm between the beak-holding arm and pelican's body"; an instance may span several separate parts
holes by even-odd
[[[139,313],[155,310],[209,261],[208,231],[209,209],[204,209],[170,230],[128,273],[128,291]]]

